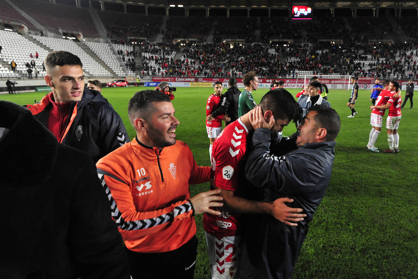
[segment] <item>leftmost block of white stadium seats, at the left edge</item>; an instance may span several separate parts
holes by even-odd
[[[25,37],[18,33],[0,30],[0,45],[3,47],[0,59],[3,61],[3,65],[8,65],[8,69],[5,67],[0,68],[1,77],[18,77],[21,74],[23,77],[27,77],[26,63],[31,62],[30,54],[33,55],[33,60],[36,63],[35,68],[40,72],[38,77],[43,77],[45,72],[42,71],[42,61],[45,59],[48,51],[40,46],[29,41]],[[39,58],[35,58],[35,52],[38,51]],[[11,71],[10,63],[14,60],[16,62],[15,73]],[[34,70],[33,70],[34,71]],[[35,73],[33,73],[35,77]]]

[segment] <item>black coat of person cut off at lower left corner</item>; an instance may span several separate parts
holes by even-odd
[[[122,237],[86,154],[0,101],[0,278],[126,278]]]

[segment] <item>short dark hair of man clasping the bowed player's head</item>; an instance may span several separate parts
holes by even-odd
[[[341,129],[341,121],[338,113],[326,105],[314,105],[308,109],[310,111],[316,111],[314,120],[318,128],[326,129],[326,141],[335,141],[338,133]]]

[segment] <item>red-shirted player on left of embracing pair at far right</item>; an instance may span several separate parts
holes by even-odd
[[[382,119],[383,115],[385,115],[385,106],[387,104],[387,101],[390,99],[390,97],[394,96],[395,93],[395,97],[399,96],[399,92],[390,92],[389,84],[389,80],[385,80],[383,82],[382,85],[384,90],[382,90],[379,96],[377,97],[376,105],[370,106],[370,109],[372,110],[372,114],[370,116],[370,125],[372,125],[372,131],[370,131],[369,134],[369,142],[367,143],[367,148],[369,148],[373,152],[379,152],[379,150],[377,150],[377,148],[375,147],[375,142],[377,140],[377,136],[379,136],[380,131],[382,130]],[[389,106],[387,106],[387,108],[388,107]]]

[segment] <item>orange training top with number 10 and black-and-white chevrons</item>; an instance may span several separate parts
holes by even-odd
[[[196,234],[189,184],[209,181],[210,167],[197,166],[186,143],[158,151],[134,138],[96,166],[128,249],[173,251]]]

